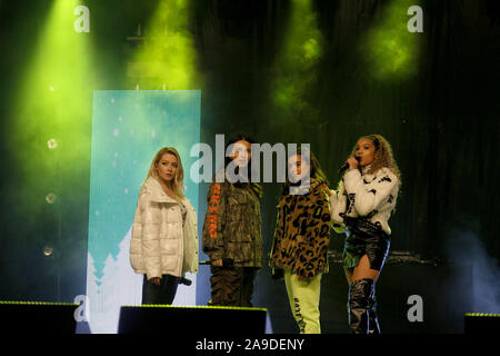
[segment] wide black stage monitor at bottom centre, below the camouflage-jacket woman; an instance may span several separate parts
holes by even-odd
[[[266,333],[267,309],[211,306],[122,306],[118,334],[250,336]],[[166,334],[168,333],[168,334]]]

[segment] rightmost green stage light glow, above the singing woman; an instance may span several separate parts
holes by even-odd
[[[382,20],[364,39],[362,56],[369,61],[372,78],[406,79],[418,71],[421,34],[408,30],[408,9],[414,0],[393,0],[382,12]]]

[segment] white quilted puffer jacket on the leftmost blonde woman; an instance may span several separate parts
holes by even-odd
[[[188,198],[182,205],[187,210],[183,226],[180,204],[160,182],[151,177],[142,185],[130,241],[130,264],[136,273],[148,279],[198,273],[197,212]]]

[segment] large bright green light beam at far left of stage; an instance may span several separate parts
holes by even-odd
[[[20,162],[26,194],[30,191],[40,201],[50,187],[61,195],[61,172],[71,170],[78,176],[87,169],[76,162],[89,155],[96,77],[91,33],[76,31],[79,16],[74,10],[80,2],[52,2],[23,63],[12,103],[10,145]]]

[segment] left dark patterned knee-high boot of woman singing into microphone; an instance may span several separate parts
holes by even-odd
[[[373,291],[373,279],[361,278],[349,287],[349,328],[352,334],[368,334],[370,297]]]

